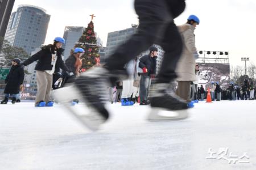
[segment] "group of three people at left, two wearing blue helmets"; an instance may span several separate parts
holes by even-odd
[[[64,83],[72,83],[81,72],[82,61],[80,57],[84,54],[84,49],[75,48],[71,56],[64,62],[61,56],[64,51],[61,46],[64,43],[65,40],[62,37],[56,37],[53,44],[43,46],[38,53],[26,61],[21,63],[19,58],[14,58],[13,66],[5,80],[5,99],[1,101],[1,104],[7,104],[10,95],[13,97],[11,102],[15,104],[16,97],[20,96],[20,91],[23,88],[24,66],[37,61],[35,66],[37,83],[35,107],[52,107],[54,101],[51,97],[51,91],[63,87]],[[60,73],[60,69],[62,73]]]

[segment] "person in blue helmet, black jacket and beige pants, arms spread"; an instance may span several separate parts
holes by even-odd
[[[53,44],[43,46],[42,49],[28,58],[22,63],[22,65],[30,65],[34,61],[38,61],[35,66],[36,70],[36,84],[38,92],[35,99],[35,107],[52,107],[53,101],[51,99],[52,88],[52,76],[53,73],[60,72],[60,69],[69,73],[68,67],[65,65],[61,54],[63,49],[61,46],[65,43],[65,40],[61,37],[56,37]]]

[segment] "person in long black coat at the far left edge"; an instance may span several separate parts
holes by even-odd
[[[20,59],[14,58],[12,61],[10,73],[5,79],[5,99],[1,101],[1,104],[7,104],[10,94],[13,96],[11,103],[15,104],[16,95],[19,94],[19,90],[22,87],[24,80],[24,69],[20,66]]]

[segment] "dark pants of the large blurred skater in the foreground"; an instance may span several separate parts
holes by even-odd
[[[135,0],[134,5],[139,16],[137,33],[119,46],[108,58],[105,67],[110,73],[116,74],[116,71],[123,70],[127,62],[147,50],[152,44],[159,44],[165,53],[156,83],[170,83],[176,78],[176,63],[183,47],[174,18],[184,11],[185,2],[184,0]]]

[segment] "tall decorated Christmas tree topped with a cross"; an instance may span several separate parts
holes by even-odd
[[[75,45],[75,48],[79,47],[85,50],[84,55],[81,57],[82,71],[85,71],[94,65],[100,65],[100,55],[98,54],[99,47],[97,46],[93,24],[93,17],[95,16],[90,16],[92,16],[92,21],[88,24],[88,27],[85,29],[84,33],[82,33],[78,43]]]

